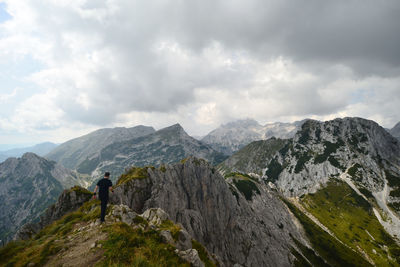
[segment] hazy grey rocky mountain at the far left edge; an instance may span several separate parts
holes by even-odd
[[[35,221],[66,186],[80,184],[75,172],[33,153],[0,164],[0,239]]]

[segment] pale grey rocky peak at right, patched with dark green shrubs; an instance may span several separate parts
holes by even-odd
[[[361,118],[309,120],[269,160],[264,178],[287,196],[313,193],[343,173],[359,187],[380,192],[386,176],[400,176],[399,165],[400,142],[377,123]]]

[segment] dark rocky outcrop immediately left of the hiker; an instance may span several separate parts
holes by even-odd
[[[79,186],[64,190],[53,205],[49,206],[44,214],[40,216],[37,223],[27,223],[16,233],[14,239],[26,240],[37,234],[45,226],[60,219],[65,214],[72,212],[88,201],[93,194]]]

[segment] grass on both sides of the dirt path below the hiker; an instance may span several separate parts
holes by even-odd
[[[1,248],[0,266],[27,266],[29,263],[43,266],[50,259],[61,257],[63,251],[79,245],[71,244],[71,240],[85,240],[87,232],[78,228],[89,227],[90,222],[99,215],[99,201],[86,202],[79,210],[44,228],[33,239],[10,242]],[[139,216],[134,221],[140,227],[133,228],[115,222],[94,229],[98,231],[95,235],[107,236],[99,242],[101,248],[90,249],[87,254],[87,257],[91,257],[91,254],[100,253],[101,258],[95,266],[190,266],[177,256],[175,247],[164,243],[159,235],[161,230],[169,230],[174,236],[179,226],[166,221],[154,229]]]

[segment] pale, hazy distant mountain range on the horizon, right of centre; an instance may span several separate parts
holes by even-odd
[[[252,141],[266,140],[271,137],[291,138],[304,121],[260,125],[253,119],[237,120],[221,125],[203,137],[201,141],[217,151],[232,155]]]

